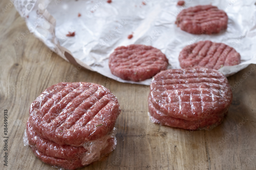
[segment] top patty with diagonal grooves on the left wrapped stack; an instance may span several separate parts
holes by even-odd
[[[120,111],[116,97],[99,84],[58,83],[31,103],[29,123],[45,139],[82,146],[111,132]]]

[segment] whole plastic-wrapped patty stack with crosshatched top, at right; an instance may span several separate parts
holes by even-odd
[[[153,77],[148,110],[153,123],[183,129],[219,125],[232,102],[227,78],[202,67],[170,69]]]

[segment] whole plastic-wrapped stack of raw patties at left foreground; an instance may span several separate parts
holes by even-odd
[[[116,97],[101,85],[58,83],[31,103],[28,143],[46,164],[86,166],[115,149],[114,125],[120,111]]]

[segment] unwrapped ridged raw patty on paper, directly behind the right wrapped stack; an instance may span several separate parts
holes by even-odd
[[[226,44],[199,41],[182,49],[179,63],[181,68],[203,66],[218,70],[222,66],[239,64],[240,58],[240,54]]]

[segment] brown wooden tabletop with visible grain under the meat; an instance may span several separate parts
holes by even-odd
[[[8,3],[1,1],[0,9]],[[116,149],[83,169],[256,169],[255,65],[228,77],[233,102],[221,125],[194,132],[160,126],[147,115],[149,86],[120,83],[89,70],[75,73],[76,66],[55,53],[48,57],[48,47],[30,33],[14,45],[28,28],[13,6],[0,12],[0,169],[55,169],[24,146],[23,133],[30,103],[47,87],[69,78],[109,88],[122,110],[115,125]],[[5,109],[8,166],[3,162]]]

